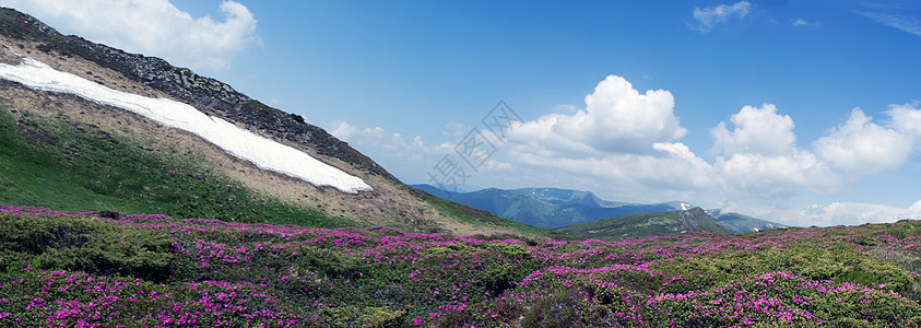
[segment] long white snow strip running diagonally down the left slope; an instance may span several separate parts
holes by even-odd
[[[17,66],[0,63],[0,79],[40,91],[75,94],[99,104],[143,115],[167,127],[198,134],[260,168],[296,177],[315,186],[331,186],[349,194],[374,190],[361,178],[320,162],[307,153],[241,129],[221,118],[208,116],[184,103],[113,90],[55,70],[32,58],[26,58]]]

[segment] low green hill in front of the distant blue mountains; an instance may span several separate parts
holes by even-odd
[[[556,231],[601,241],[673,235],[684,232],[729,234],[727,230],[717,224],[716,219],[700,208],[693,208],[685,211],[649,212],[609,218],[564,226],[556,229]]]

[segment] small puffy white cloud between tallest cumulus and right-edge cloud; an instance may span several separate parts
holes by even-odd
[[[772,104],[764,104],[760,108],[742,107],[730,120],[735,126],[732,131],[729,131],[722,121],[710,129],[710,137],[713,139],[711,151],[728,155],[779,155],[790,153],[796,148],[793,119],[789,115],[777,114],[777,106]]]

